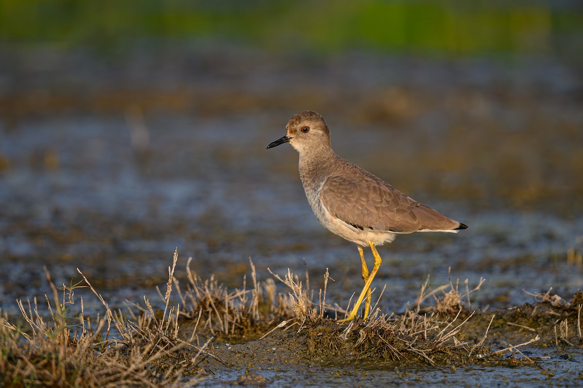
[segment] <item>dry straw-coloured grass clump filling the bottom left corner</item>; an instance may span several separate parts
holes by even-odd
[[[170,271],[166,297],[170,296]],[[35,298],[25,305],[18,301],[24,327],[0,319],[0,385],[10,387],[167,387],[184,383],[188,368],[194,368],[203,348],[178,339],[175,308],[156,318],[145,299],[149,315],[125,319],[113,312],[101,295],[85,281],[103,302],[106,312],[93,320],[83,311],[69,316],[79,284],[58,291],[48,271],[52,300],[45,295],[47,313]],[[48,316],[48,318],[45,318]],[[113,327],[112,327],[113,325]],[[111,337],[112,329],[119,337]],[[190,348],[191,352],[184,351]],[[196,354],[192,357],[192,354]],[[203,354],[203,356],[206,354]],[[163,367],[161,367],[163,365]],[[196,378],[194,378],[196,380]]]

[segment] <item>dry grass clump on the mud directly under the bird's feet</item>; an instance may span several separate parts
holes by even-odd
[[[325,279],[327,279],[327,273]],[[293,291],[291,295],[296,301],[296,315],[298,319],[301,319],[297,333],[307,343],[311,358],[319,358],[320,355],[325,354],[326,358],[336,357],[339,362],[360,359],[366,362],[393,364],[421,361],[436,365],[452,359],[469,362],[472,354],[472,359],[476,359],[489,353],[489,349],[482,346],[483,341],[470,346],[469,343],[456,338],[456,334],[472,318],[473,313],[462,320],[459,318],[461,310],[458,309],[453,319],[441,321],[438,320],[437,311],[429,315],[427,313],[420,315],[407,309],[403,315],[394,313],[384,315],[381,314],[380,309],[375,309],[366,322],[353,320],[346,324],[338,324],[324,318],[324,309],[330,308],[325,305],[325,289],[319,294],[319,309],[309,309],[307,306],[311,304],[305,301],[305,295],[308,292],[301,290],[301,283],[293,281],[289,272],[282,281]],[[480,281],[481,284],[482,281]],[[427,283],[423,290],[426,287]],[[440,287],[438,290],[443,290],[443,288]],[[449,298],[454,291],[457,292],[457,289],[452,288],[451,291],[445,292],[444,299]],[[431,295],[435,294],[436,292],[431,293]],[[452,300],[459,301],[461,298],[457,294]],[[456,305],[458,305],[457,302]]]

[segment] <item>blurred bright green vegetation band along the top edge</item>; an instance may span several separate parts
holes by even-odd
[[[272,52],[351,49],[583,59],[577,1],[0,0],[4,43],[119,48],[135,40],[229,40]]]

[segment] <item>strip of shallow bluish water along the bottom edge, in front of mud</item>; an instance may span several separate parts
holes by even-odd
[[[583,352],[575,350],[568,355],[552,352],[528,352],[528,357],[547,357],[536,366],[518,368],[470,365],[432,368],[378,369],[361,366],[282,365],[279,367],[255,366],[250,372],[259,373],[268,379],[268,386],[303,387],[356,386],[356,387],[494,387],[494,386],[578,386],[581,384],[581,362]],[[245,373],[244,370],[222,370],[203,381],[201,387],[230,387]]]

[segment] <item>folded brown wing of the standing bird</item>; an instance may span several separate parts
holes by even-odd
[[[452,230],[459,226],[389,185],[362,171],[354,179],[328,177],[320,191],[322,204],[332,216],[356,228],[378,232],[411,233],[421,230]]]

